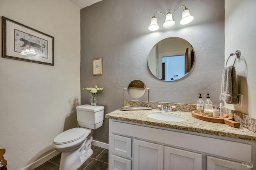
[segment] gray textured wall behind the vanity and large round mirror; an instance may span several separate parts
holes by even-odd
[[[148,30],[155,12],[173,13],[185,5],[194,21],[180,25],[182,9],[174,27],[162,27],[164,16],[156,14],[160,29]],[[191,72],[175,82],[155,78],[147,66],[152,47],[166,37],[181,37],[190,42],[196,53]],[[92,59],[102,57],[103,75],[92,76]],[[97,96],[97,105],[105,114],[123,104],[123,88],[135,79],[150,88],[150,100],[196,104],[198,93],[203,100],[210,93],[218,105],[224,68],[223,0],[103,0],[81,10],[81,88],[95,85],[106,89]],[[144,99],[145,100],[145,99]],[[81,91],[81,104],[90,104],[90,95]],[[108,143],[108,119],[94,131],[94,140]]]

